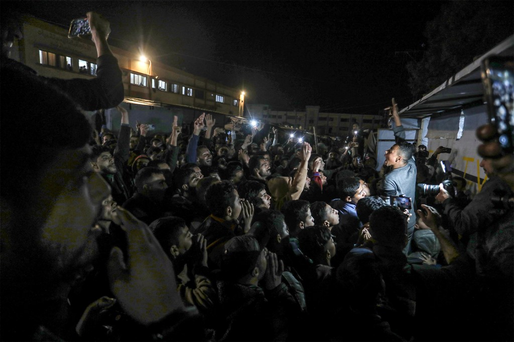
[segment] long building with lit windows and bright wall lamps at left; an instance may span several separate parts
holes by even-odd
[[[68,31],[32,17],[24,18],[23,39],[11,57],[45,77],[96,77],[97,51],[90,36],[69,39]],[[244,115],[244,92],[199,77],[136,53],[111,46],[123,72],[124,102],[131,121],[153,123],[170,131],[173,116],[188,126],[201,112],[212,113],[220,124]],[[106,111],[112,128],[119,126],[116,110]],[[108,123],[109,124],[109,123]]]

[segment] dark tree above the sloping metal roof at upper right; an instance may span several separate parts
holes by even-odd
[[[423,96],[514,31],[512,2],[451,1],[427,23],[427,49],[407,64],[409,88]]]

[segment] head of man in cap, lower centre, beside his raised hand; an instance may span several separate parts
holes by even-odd
[[[267,249],[251,235],[236,236],[224,245],[221,261],[223,278],[229,282],[257,285],[267,268]]]

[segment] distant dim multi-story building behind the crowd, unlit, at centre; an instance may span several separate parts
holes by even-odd
[[[319,106],[305,106],[305,110],[272,110],[269,105],[247,104],[247,114],[257,121],[288,126],[298,130],[313,132],[320,136],[341,137],[348,136],[354,123],[362,128],[377,129],[383,122],[380,115],[360,115],[348,113],[320,112]]]

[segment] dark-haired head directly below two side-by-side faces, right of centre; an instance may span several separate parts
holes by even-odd
[[[328,228],[322,224],[303,229],[298,233],[298,242],[303,254],[315,264],[330,265],[336,255],[336,245]]]

